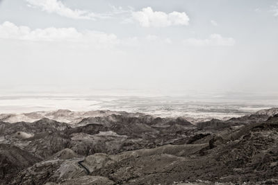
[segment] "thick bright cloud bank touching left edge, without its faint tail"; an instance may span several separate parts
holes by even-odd
[[[76,28],[51,27],[31,30],[28,26],[16,26],[9,21],[0,24],[0,38],[32,42],[82,42],[95,46],[113,46],[118,42],[114,34],[90,30],[79,32]]]

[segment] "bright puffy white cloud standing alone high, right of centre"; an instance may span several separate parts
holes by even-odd
[[[189,17],[185,12],[154,12],[151,7],[142,8],[141,11],[132,12],[132,18],[142,27],[167,27],[188,25]]]

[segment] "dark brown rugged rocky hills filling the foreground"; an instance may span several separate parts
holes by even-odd
[[[278,109],[190,123],[140,113],[0,114],[0,184],[278,184]]]

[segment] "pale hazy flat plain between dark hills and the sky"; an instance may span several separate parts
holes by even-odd
[[[40,116],[38,118],[26,117],[22,113],[38,112],[41,114],[39,111],[45,111],[43,114],[46,114],[47,111],[57,109],[70,109],[74,112],[91,110],[141,112],[161,117],[183,116],[188,121],[197,122],[207,121],[211,118],[227,120],[271,107],[278,107],[278,101],[194,100],[168,96],[0,96],[0,114],[17,114],[10,118],[10,122],[13,123],[17,121],[33,122],[40,118]],[[97,114],[94,115],[97,116]],[[58,121],[70,123],[74,121],[74,117],[70,119],[60,117]]]

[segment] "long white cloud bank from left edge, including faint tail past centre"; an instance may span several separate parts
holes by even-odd
[[[114,34],[103,33],[95,30],[76,30],[76,28],[44,28],[31,29],[28,26],[17,26],[10,21],[0,24],[0,39],[18,40],[24,42],[55,42],[67,46],[85,46],[98,49],[134,46],[158,46],[172,44],[170,38],[161,38],[156,35],[146,37],[126,37],[119,39]]]

